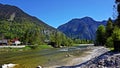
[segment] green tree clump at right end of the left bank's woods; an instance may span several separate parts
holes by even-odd
[[[60,46],[71,46],[73,41],[66,37],[63,33],[56,31],[51,34],[50,36],[50,42],[54,43],[54,47],[60,47]]]

